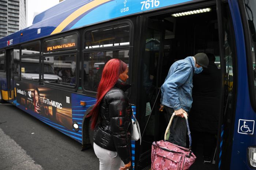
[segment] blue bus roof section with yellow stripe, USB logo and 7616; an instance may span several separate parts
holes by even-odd
[[[110,19],[189,1],[199,0],[65,0],[36,15],[32,26],[0,39],[0,49]]]

